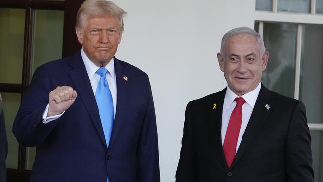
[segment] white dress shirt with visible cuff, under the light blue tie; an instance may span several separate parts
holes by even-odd
[[[93,90],[93,93],[95,95],[95,92],[96,92],[96,87],[97,87],[97,84],[100,80],[100,76],[98,74],[96,74],[95,72],[100,68],[98,66],[96,66],[85,54],[85,52],[83,51],[83,48],[81,50],[81,56],[82,56],[82,59],[83,59],[83,62],[84,62],[84,65],[85,65],[85,68],[86,68],[86,72],[87,72],[87,75],[88,75],[88,78],[90,79],[90,82],[91,82],[91,86],[92,86],[92,90]],[[112,58],[109,62],[109,64],[107,64],[105,66],[105,68],[109,71],[107,74],[106,74],[106,80],[108,81],[108,84],[109,84],[109,89],[111,91],[111,95],[112,95],[112,100],[113,100],[113,114],[114,114],[114,117],[115,117],[115,113],[116,113],[116,106],[117,106],[117,80],[116,80],[116,75],[115,75],[115,70],[114,70],[114,59]],[[75,88],[73,88],[75,89]],[[53,121],[55,119],[58,119],[59,117],[61,117],[64,112],[62,114],[59,114],[59,115],[55,115],[55,116],[51,116],[51,117],[46,117],[47,116],[47,113],[48,113],[48,107],[49,107],[49,104],[47,104],[46,106],[46,109],[44,111],[44,114],[43,114],[43,123],[46,124],[50,121]]]

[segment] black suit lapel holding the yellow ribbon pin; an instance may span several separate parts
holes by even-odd
[[[221,127],[222,127],[222,110],[224,96],[226,94],[226,89],[219,92],[220,94],[212,100],[216,107],[214,108],[214,103],[210,103],[210,117],[209,117],[209,133],[211,135],[212,146],[215,150],[215,158],[220,160],[220,163],[224,169],[228,169],[226,159],[223,153],[223,146],[221,142]]]

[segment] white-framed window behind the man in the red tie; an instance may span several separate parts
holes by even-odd
[[[323,182],[323,0],[256,0],[269,61],[262,82],[307,110],[315,182]]]

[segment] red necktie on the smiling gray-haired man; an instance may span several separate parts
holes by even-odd
[[[235,101],[237,104],[231,113],[226,136],[223,142],[223,151],[229,168],[236,155],[237,141],[242,121],[241,107],[245,103],[245,100],[242,97],[237,97]]]

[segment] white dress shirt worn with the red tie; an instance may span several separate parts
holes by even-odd
[[[245,100],[245,103],[242,105],[242,122],[241,122],[241,128],[240,128],[238,141],[237,141],[236,153],[240,146],[244,131],[249,123],[249,119],[251,117],[254,104],[257,101],[260,89],[261,89],[261,83],[259,83],[259,85],[253,91],[250,91],[249,93],[242,95],[242,98]],[[237,97],[239,96],[236,95],[233,91],[231,91],[229,87],[227,87],[226,95],[224,96],[223,110],[222,110],[222,125],[221,125],[222,145],[224,142],[224,138],[226,136],[231,113],[233,109],[236,107],[236,101],[234,100]]]

